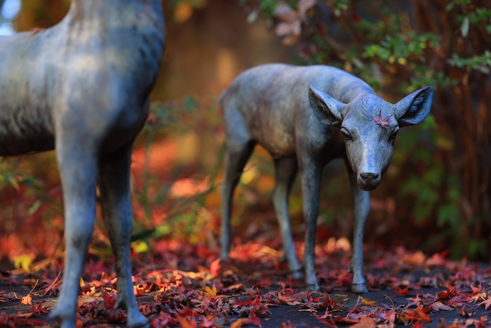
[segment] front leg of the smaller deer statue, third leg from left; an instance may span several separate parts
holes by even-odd
[[[299,156],[300,178],[302,185],[303,216],[307,225],[305,231],[305,283],[308,289],[319,289],[315,275],[315,230],[319,214],[319,190],[322,166],[315,160]]]

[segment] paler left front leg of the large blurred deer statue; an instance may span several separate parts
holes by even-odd
[[[56,141],[65,206],[66,258],[61,295],[51,318],[57,319],[62,328],[75,327],[80,276],[95,221],[97,150],[82,140],[73,137]]]

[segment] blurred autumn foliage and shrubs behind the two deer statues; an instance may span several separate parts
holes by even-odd
[[[52,26],[69,5],[0,0],[0,33]],[[135,252],[158,252],[165,240],[217,251],[224,142],[218,96],[249,67],[290,62],[343,68],[393,103],[432,85],[431,116],[401,130],[392,164],[372,192],[367,249],[405,246],[489,260],[491,1],[166,0],[164,6],[162,74],[133,156]],[[235,242],[280,247],[273,187],[271,157],[258,147],[236,193]],[[1,262],[62,255],[60,196],[53,153],[0,161]],[[298,181],[290,204],[301,242]],[[346,169],[334,161],[323,176],[318,242],[351,239],[352,219]],[[105,236],[98,220],[93,256],[108,254]]]

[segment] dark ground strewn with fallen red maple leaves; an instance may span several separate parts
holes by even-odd
[[[317,246],[323,290],[309,293],[301,281],[289,278],[278,252],[264,244],[238,245],[231,260],[220,262],[204,246],[162,240],[157,254],[133,255],[134,291],[152,327],[491,325],[489,266],[404,249],[366,252],[370,292],[358,296],[349,292],[349,254],[340,246]],[[36,273],[1,271],[0,327],[55,325],[47,316],[59,294],[61,266],[44,262]],[[113,309],[116,280],[110,262],[89,261],[81,279],[79,327],[124,324],[125,312]]]

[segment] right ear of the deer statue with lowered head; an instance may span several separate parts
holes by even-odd
[[[425,87],[409,94],[396,104],[394,117],[400,127],[418,124],[430,114],[433,87]]]

